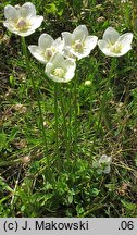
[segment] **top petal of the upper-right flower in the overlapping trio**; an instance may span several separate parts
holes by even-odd
[[[72,34],[72,40],[84,40],[88,36],[88,29],[85,25],[76,27]]]

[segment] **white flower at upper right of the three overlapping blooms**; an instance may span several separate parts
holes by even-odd
[[[63,32],[62,37],[65,41],[64,55],[76,57],[78,60],[87,57],[96,47],[98,38],[96,36],[88,36],[88,30],[85,25],[79,25],[71,34]]]

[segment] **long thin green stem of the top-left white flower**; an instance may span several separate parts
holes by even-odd
[[[49,163],[49,156],[48,156],[48,145],[47,145],[47,137],[46,137],[46,131],[45,131],[45,125],[43,125],[42,111],[41,111],[41,106],[40,106],[40,100],[39,100],[39,95],[38,95],[38,91],[37,91],[37,87],[35,85],[34,76],[33,76],[32,70],[30,70],[29,59],[28,59],[27,48],[26,48],[26,42],[25,42],[25,38],[24,37],[22,37],[22,46],[23,46],[23,53],[24,53],[25,60],[26,60],[27,75],[32,79],[34,92],[35,92],[35,96],[36,96],[36,99],[37,99],[37,103],[38,103],[40,124],[41,124],[41,132],[42,132],[42,139],[43,139],[43,145],[45,145],[45,156],[47,158],[48,169],[50,171],[50,168],[49,168],[50,163]]]

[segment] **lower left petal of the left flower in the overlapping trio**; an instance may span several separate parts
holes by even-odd
[[[40,63],[46,64],[46,58],[38,46],[29,45],[28,50],[30,51],[33,57],[36,58]]]

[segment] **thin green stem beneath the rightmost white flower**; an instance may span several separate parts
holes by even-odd
[[[98,136],[98,133],[99,133],[99,129],[100,129],[102,116],[103,115],[104,115],[104,118],[107,118],[107,115],[109,116],[109,113],[107,113],[107,101],[108,101],[108,92],[109,92],[109,89],[110,89],[111,78],[113,77],[113,73],[114,73],[114,67],[115,67],[115,58],[112,58],[111,69],[110,69],[110,73],[109,73],[107,84],[105,84],[104,95],[102,97],[102,102],[101,102],[101,106],[100,106],[99,120],[98,120],[98,125],[97,125],[97,128],[96,128],[94,141],[92,141],[92,146],[91,146],[90,157],[92,157],[92,152],[94,152],[95,145],[96,145],[96,139],[97,139],[97,136]]]

